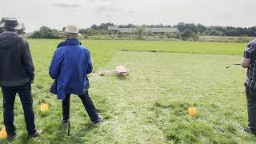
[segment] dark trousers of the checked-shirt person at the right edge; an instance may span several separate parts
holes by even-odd
[[[256,130],[256,90],[246,86],[249,127]]]

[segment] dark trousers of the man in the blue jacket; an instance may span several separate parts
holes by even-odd
[[[94,102],[92,102],[89,97],[88,91],[86,91],[86,94],[78,96],[82,100],[82,104],[85,107],[87,113],[89,114],[90,121],[95,122],[99,117],[97,110],[94,106]],[[64,120],[70,118],[70,94],[66,94],[66,98],[62,101],[62,114]]]

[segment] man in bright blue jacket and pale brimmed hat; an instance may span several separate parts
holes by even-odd
[[[89,80],[93,66],[90,51],[78,41],[78,27],[66,26],[66,40],[58,45],[50,64],[49,74],[55,81],[50,92],[62,100],[62,122],[70,122],[70,94],[76,94],[82,100],[91,122],[101,124],[102,118],[89,97]]]

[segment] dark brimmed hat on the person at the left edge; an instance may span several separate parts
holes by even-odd
[[[18,22],[16,18],[6,18],[5,23],[0,24],[0,27],[21,30],[23,26]]]

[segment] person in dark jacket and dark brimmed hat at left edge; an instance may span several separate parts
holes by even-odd
[[[30,54],[29,43],[18,35],[22,27],[16,18],[6,18],[2,24],[5,32],[0,34],[0,86],[3,94],[3,117],[8,137],[16,135],[14,126],[14,101],[19,95],[26,130],[29,137],[38,137],[42,130],[34,125],[33,98],[31,83],[34,81],[34,66]]]

